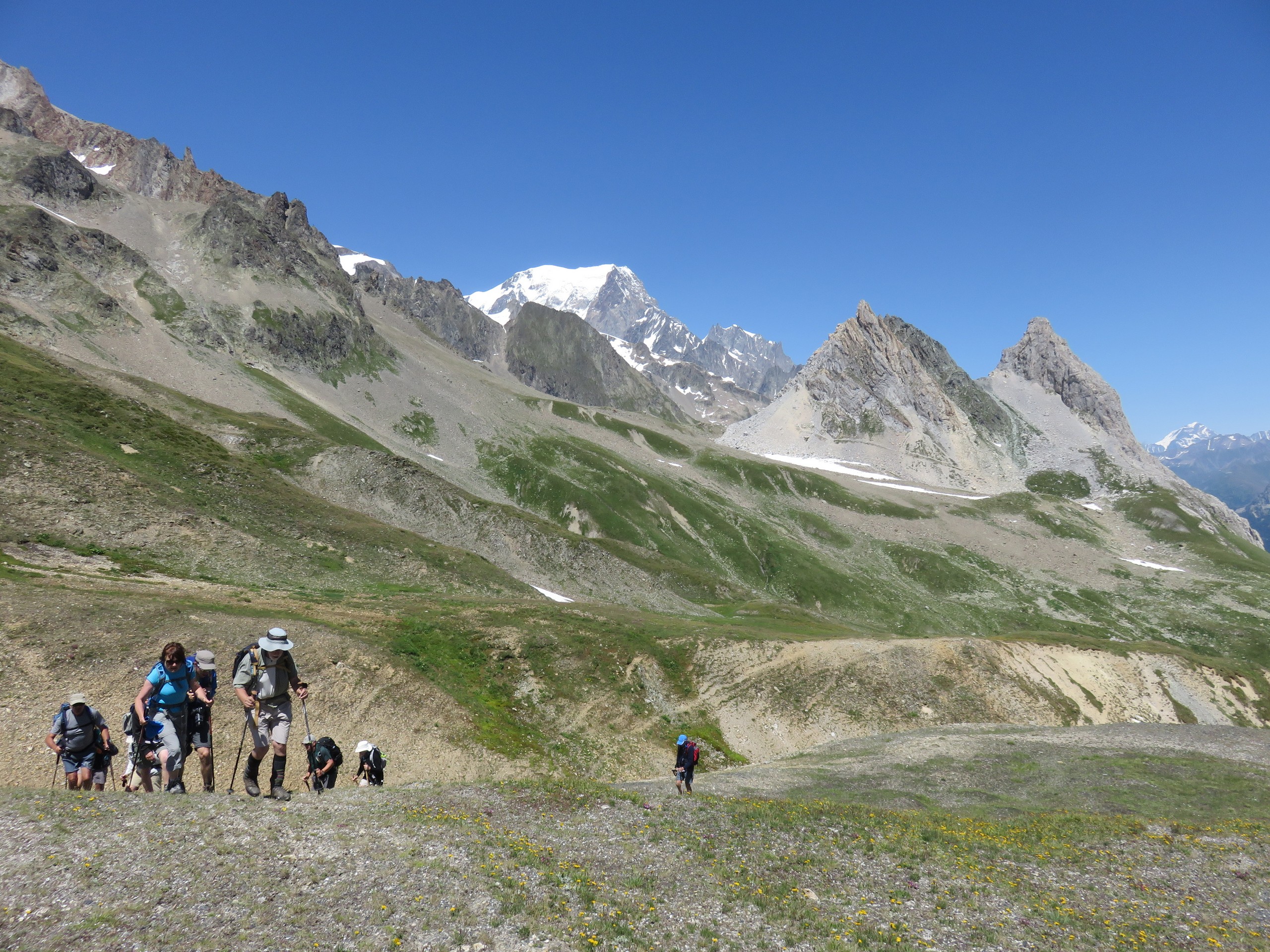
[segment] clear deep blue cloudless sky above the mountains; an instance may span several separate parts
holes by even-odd
[[[1048,316],[1139,437],[1270,426],[1270,4],[5,4],[88,119],[465,292],[630,265],[805,357]]]

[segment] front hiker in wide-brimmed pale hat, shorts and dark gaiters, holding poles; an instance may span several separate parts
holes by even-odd
[[[291,800],[282,786],[287,774],[287,736],[291,734],[291,694],[304,701],[309,688],[300,680],[296,663],[291,658],[295,644],[284,628],[269,628],[255,645],[240,652],[234,665],[234,692],[243,702],[250,724],[251,753],[243,768],[243,787],[248,796],[260,796],[260,760],[273,744],[273,767],[269,777],[269,796]]]

